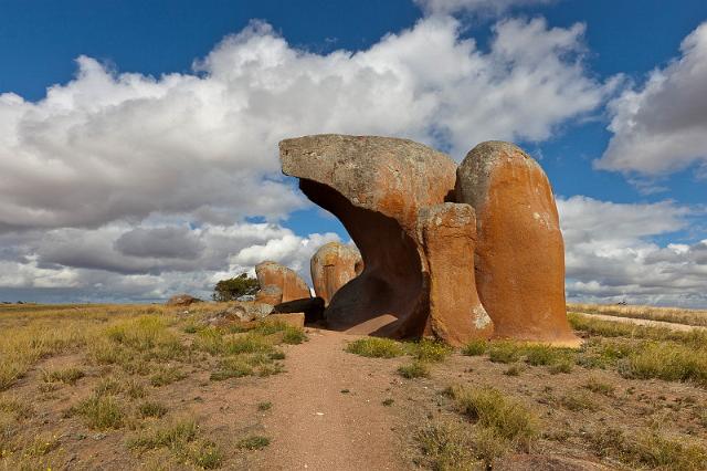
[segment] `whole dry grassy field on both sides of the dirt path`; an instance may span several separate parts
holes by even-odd
[[[267,469],[260,418],[287,411],[240,391],[279,378],[306,334],[204,323],[221,308],[0,306],[0,469]],[[341,348],[389,371],[376,400],[413,469],[707,469],[707,333],[569,318],[578,350]]]

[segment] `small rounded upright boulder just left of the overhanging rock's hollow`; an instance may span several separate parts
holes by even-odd
[[[309,268],[315,293],[325,304],[329,304],[341,286],[363,271],[363,262],[358,249],[341,242],[329,242],[315,252]]]

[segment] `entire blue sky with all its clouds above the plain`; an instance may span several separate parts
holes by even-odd
[[[0,300],[203,295],[258,257],[306,276],[348,236],[275,144],[339,132],[514,140],[570,299],[707,307],[704,1],[97,4],[0,2]]]

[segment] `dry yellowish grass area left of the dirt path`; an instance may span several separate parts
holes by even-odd
[[[0,306],[0,465],[215,469],[266,447],[267,437],[200,423],[200,389],[279,373],[282,346],[304,332],[204,324],[215,310]]]

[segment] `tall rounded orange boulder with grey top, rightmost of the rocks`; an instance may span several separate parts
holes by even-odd
[[[557,207],[540,166],[513,144],[482,143],[458,167],[456,200],[476,211],[476,286],[495,336],[578,345]]]

